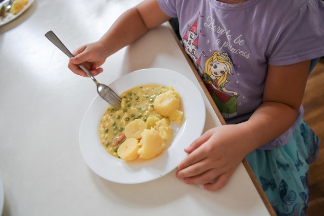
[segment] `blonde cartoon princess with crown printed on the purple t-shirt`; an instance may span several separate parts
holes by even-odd
[[[231,59],[227,53],[214,52],[205,62],[204,82],[224,118],[237,116],[238,93],[225,88],[231,73]]]

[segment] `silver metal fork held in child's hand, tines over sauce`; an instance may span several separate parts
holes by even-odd
[[[68,57],[72,58],[74,57],[73,54],[65,47],[65,45],[58,39],[58,37],[54,34],[54,32],[49,31],[45,34],[45,36],[62,52],[64,52]],[[121,107],[122,99],[119,98],[119,96],[110,89],[107,85],[99,83],[92,74],[87,70],[86,67],[84,67],[82,64],[77,65],[80,69],[82,69],[86,74],[96,83],[97,85],[97,92],[100,97],[102,97],[105,101],[110,103],[112,106],[114,106],[116,109],[119,109]]]

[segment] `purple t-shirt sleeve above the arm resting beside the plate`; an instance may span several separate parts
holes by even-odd
[[[282,66],[324,56],[324,1],[307,1],[286,17],[269,63]]]

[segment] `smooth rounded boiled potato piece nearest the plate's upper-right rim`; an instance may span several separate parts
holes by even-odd
[[[158,114],[169,117],[173,110],[179,109],[180,100],[171,92],[166,92],[156,96],[153,105]]]

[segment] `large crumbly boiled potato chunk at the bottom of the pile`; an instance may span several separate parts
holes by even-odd
[[[144,129],[142,138],[139,142],[139,158],[151,159],[160,154],[164,148],[163,138],[154,129]]]

